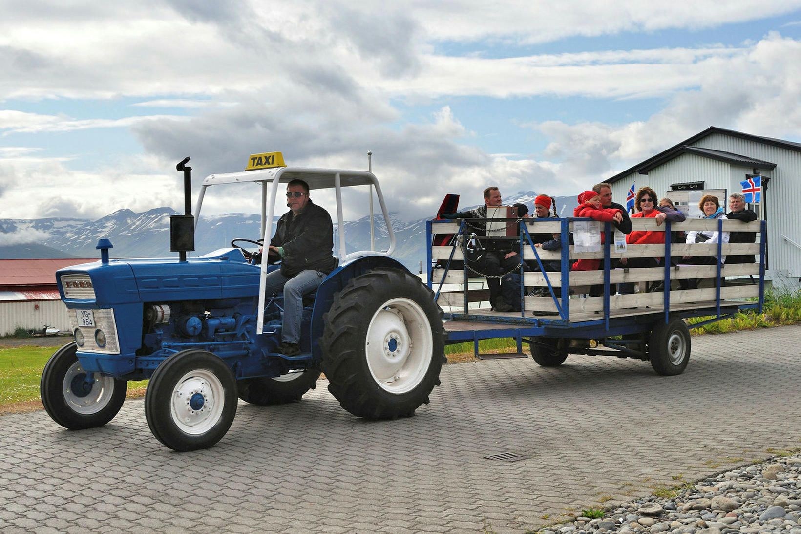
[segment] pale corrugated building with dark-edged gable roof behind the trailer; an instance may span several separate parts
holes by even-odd
[[[801,144],[709,127],[608,181],[625,204],[631,184],[658,196],[693,189],[743,190],[748,176],[762,176],[762,202],[751,205],[767,220],[767,278],[774,285],[801,285]],[[728,199],[720,199],[728,210]]]

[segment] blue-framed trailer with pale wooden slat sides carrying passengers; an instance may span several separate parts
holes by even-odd
[[[501,235],[481,235],[477,229],[501,225]],[[593,247],[578,247],[570,239],[577,223],[596,226],[605,233]],[[448,344],[478,342],[489,338],[514,338],[517,353],[525,357],[523,343],[540,366],[559,366],[569,354],[610,355],[650,362],[662,375],[682,373],[690,360],[689,328],[729,318],[744,309],[763,308],[765,296],[766,223],[756,220],[686,220],[658,226],[654,219],[632,219],[635,230],[665,232],[665,243],[658,245],[619,245],[613,239],[610,223],[581,218],[547,219],[465,219],[430,220],[427,228],[428,284],[437,303],[445,309]],[[599,228],[599,229],[598,229]],[[505,232],[504,229],[507,229]],[[509,229],[516,229],[510,232]],[[714,230],[755,233],[755,243],[723,244],[671,243],[671,234],[682,230]],[[582,229],[586,232],[586,228]],[[533,233],[552,233],[561,237],[562,249],[547,251],[534,246]],[[517,237],[506,237],[508,235]],[[721,234],[722,235],[722,234]],[[437,245],[445,236],[446,245]],[[590,236],[591,237],[591,236]],[[516,241],[523,261],[511,271],[519,275],[520,311],[497,312],[489,305],[477,257],[488,239]],[[577,242],[579,240],[576,240]],[[583,240],[582,240],[583,241]],[[723,241],[723,240],[718,240]],[[756,254],[753,264],[726,265],[727,254]],[[712,265],[682,265],[689,256],[714,257]],[[614,262],[621,257],[662,257],[661,267],[626,269]],[[601,261],[602,269],[571,270],[578,259]],[[549,271],[544,262],[557,263]],[[724,282],[724,277],[729,277]],[[682,289],[679,281],[702,280],[694,289]],[[618,293],[624,284],[641,285],[642,292]],[[594,286],[596,289],[592,291]],[[650,290],[656,289],[656,290]],[[597,296],[590,296],[590,295]],[[707,318],[687,326],[686,318]]]

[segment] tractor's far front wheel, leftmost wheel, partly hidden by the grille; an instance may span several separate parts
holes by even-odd
[[[123,407],[128,382],[95,373],[95,382],[89,385],[87,371],[75,355],[77,350],[74,342],[67,343],[47,360],[39,383],[42,404],[62,427],[103,427]]]

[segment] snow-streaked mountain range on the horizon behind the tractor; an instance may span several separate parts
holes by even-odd
[[[533,212],[536,193],[518,192],[504,198],[505,204],[520,202]],[[573,197],[557,197],[557,213],[573,214],[576,200]],[[476,204],[460,206],[460,210]],[[329,210],[333,212],[333,210]],[[154,208],[135,213],[121,209],[98,220],[72,218],[47,218],[34,220],[0,219],[0,259],[14,257],[97,257],[95,249],[101,237],[111,239],[114,249],[111,257],[171,257],[170,216],[178,215],[172,208]],[[401,220],[390,212],[390,224],[395,231],[396,252],[394,257],[413,272],[420,262],[425,262],[425,221]],[[368,217],[348,221],[344,224],[345,249],[370,249],[370,222]],[[338,229],[334,225],[335,249],[339,251]],[[373,227],[375,248],[387,249],[389,239],[383,217],[377,216]],[[230,246],[237,237],[258,239],[260,216],[252,213],[227,213],[218,216],[200,216],[195,233],[195,252],[199,256],[212,250]],[[43,245],[19,247],[18,245]],[[46,249],[49,247],[50,249]],[[61,255],[59,256],[59,251]],[[30,255],[29,255],[30,254]]]

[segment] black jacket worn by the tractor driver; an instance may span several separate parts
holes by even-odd
[[[281,274],[285,277],[294,277],[305,269],[328,274],[336,267],[331,216],[311,199],[300,215],[293,216],[290,210],[281,216],[270,245],[284,247]]]

